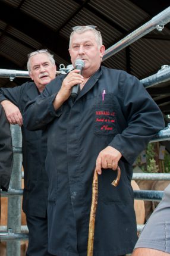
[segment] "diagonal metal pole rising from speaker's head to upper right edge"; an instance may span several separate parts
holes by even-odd
[[[170,7],[166,8],[164,11],[153,17],[152,20],[148,21],[143,26],[139,27],[129,35],[125,36],[125,38],[123,38],[122,40],[119,40],[119,42],[115,43],[115,45],[112,45],[110,48],[106,49],[103,56],[103,61],[116,54],[117,52],[121,51],[126,46],[130,45],[136,40],[142,38],[144,35],[151,32],[152,30],[158,29],[162,31],[163,26],[169,22]]]

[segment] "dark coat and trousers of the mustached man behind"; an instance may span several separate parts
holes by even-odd
[[[24,107],[39,95],[33,82],[14,88],[1,88],[0,101],[10,100],[23,114]],[[47,197],[48,176],[45,171],[47,138],[42,130],[30,132],[21,126],[24,168],[23,211],[29,228],[27,255],[47,256],[48,220]]]

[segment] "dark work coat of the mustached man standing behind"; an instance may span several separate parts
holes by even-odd
[[[10,100],[21,114],[26,103],[39,95],[35,83],[27,82],[15,88],[1,88],[0,101]],[[46,135],[42,130],[31,132],[24,126],[22,151],[24,167],[23,211],[26,214],[45,217],[47,210],[48,176],[45,171]]]

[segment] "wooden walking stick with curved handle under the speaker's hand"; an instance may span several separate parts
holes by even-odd
[[[117,186],[119,179],[121,177],[121,169],[117,167],[117,178],[112,182],[113,186]],[[87,246],[87,256],[93,256],[93,242],[95,234],[95,218],[96,218],[96,207],[97,207],[97,197],[98,197],[98,176],[95,169],[93,176],[93,185],[92,185],[92,205],[90,210],[90,221],[89,221],[89,237],[88,237],[88,246]]]

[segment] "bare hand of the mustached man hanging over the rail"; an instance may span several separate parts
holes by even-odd
[[[1,105],[4,108],[5,114],[10,124],[19,124],[19,126],[23,125],[23,117],[17,106],[8,100],[1,101]]]

